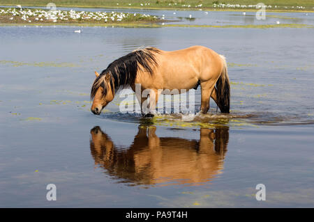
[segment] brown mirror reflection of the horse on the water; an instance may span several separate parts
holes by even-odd
[[[223,170],[228,128],[200,129],[200,141],[158,137],[140,125],[128,149],[117,147],[100,127],[91,129],[95,164],[123,182],[144,185],[200,185]]]

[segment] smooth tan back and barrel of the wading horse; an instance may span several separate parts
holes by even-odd
[[[158,65],[152,77],[146,72],[137,76],[136,83],[143,88],[195,88],[199,80],[216,79],[223,68],[219,54],[200,45],[175,51],[158,49],[155,56]]]

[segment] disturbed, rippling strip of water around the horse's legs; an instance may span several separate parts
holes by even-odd
[[[160,125],[165,127],[258,127],[260,125],[308,125],[313,119],[301,116],[281,116],[271,112],[254,113],[169,113],[156,114],[153,118],[142,117],[140,113],[103,113],[100,118],[119,122],[132,122],[144,125]]]

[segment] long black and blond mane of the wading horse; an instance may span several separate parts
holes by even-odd
[[[110,86],[117,93],[122,88],[127,88],[134,84],[137,71],[147,71],[149,74],[153,74],[154,66],[157,65],[154,53],[160,53],[160,51],[154,47],[147,47],[144,49],[137,49],[122,56],[113,61],[108,67],[100,73],[95,79],[93,86],[91,87],[91,99],[96,95],[96,92],[100,86],[103,87],[104,95],[107,93],[107,83],[105,77],[110,75]]]

